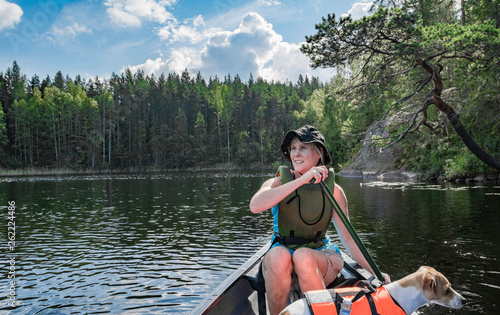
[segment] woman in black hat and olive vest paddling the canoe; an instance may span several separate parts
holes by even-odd
[[[348,216],[344,191],[327,169],[332,160],[323,135],[312,126],[303,126],[287,133],[281,150],[293,170],[280,167],[280,174],[264,182],[250,201],[253,213],[272,208],[274,217],[273,245],[262,265],[271,314],[278,314],[287,304],[292,270],[303,292],[325,289],[337,277],[343,259],[326,235],[330,220],[347,252],[373,274],[333,207],[325,203],[320,185],[315,185],[320,181],[331,185]]]

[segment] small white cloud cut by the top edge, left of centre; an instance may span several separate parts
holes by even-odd
[[[139,27],[143,19],[158,23],[175,20],[166,6],[172,6],[177,1],[155,0],[106,0],[104,5],[111,22],[120,27]]]

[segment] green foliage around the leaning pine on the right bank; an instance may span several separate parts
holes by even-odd
[[[393,1],[379,0],[371,16],[356,21],[350,17],[336,20],[334,14],[323,18],[316,25],[317,33],[306,37],[301,50],[313,67],[339,70],[328,87],[335,109],[325,109],[325,120],[334,121],[339,117],[337,106],[350,108],[342,122],[336,122],[343,127],[335,128],[338,131],[331,136],[338,141],[339,151],[348,139],[342,135],[351,134],[347,147],[356,147],[360,133],[386,115],[397,115],[401,121],[401,128],[389,130],[392,135],[406,130],[413,117],[416,123],[422,119],[422,113],[416,113],[435,86],[430,82],[420,93],[412,92],[426,78],[416,61],[426,60],[431,67],[442,69],[442,97],[460,114],[471,137],[500,158],[495,140],[500,138],[500,25],[496,16],[485,18],[494,16],[492,10],[498,12],[500,6],[495,3],[466,1],[467,15],[461,16],[451,1],[409,0],[393,7]],[[453,92],[445,91],[447,88]],[[428,108],[425,114],[428,126],[442,120],[437,110]],[[358,126],[361,130],[356,130]],[[468,150],[451,125],[444,124],[430,134],[426,130],[430,132],[422,125],[419,133],[407,136],[401,167],[449,176],[469,174],[465,167],[487,170],[481,162],[473,162],[470,153],[464,154]],[[376,140],[379,147],[389,142],[380,137]]]

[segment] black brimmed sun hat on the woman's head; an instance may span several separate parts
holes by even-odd
[[[305,125],[297,130],[289,131],[285,135],[285,139],[281,143],[281,152],[291,162],[290,158],[290,145],[292,140],[298,138],[302,143],[318,143],[323,148],[323,160],[325,166],[332,164],[332,158],[326,148],[325,137],[319,132],[318,129],[310,125]]]

